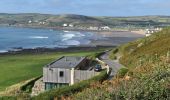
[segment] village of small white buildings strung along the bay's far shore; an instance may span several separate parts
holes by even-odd
[[[28,25],[33,25],[33,24],[38,24],[40,26],[46,26],[49,24],[49,22],[47,21],[32,21],[29,20],[28,21]],[[20,25],[22,26],[22,24]],[[133,30],[142,30],[145,33],[145,36],[148,37],[150,35],[152,35],[155,32],[159,32],[162,30],[161,27],[153,27],[153,26],[148,26],[148,28],[144,28],[144,29],[133,29],[133,27],[135,26],[129,26],[129,24],[123,26],[124,29],[121,29],[121,27],[115,26],[115,28],[111,28],[110,26],[107,25],[89,25],[89,26],[83,26],[83,25],[75,25],[73,23],[63,23],[60,24],[59,26],[55,27],[55,28],[59,28],[62,30],[85,30],[85,31],[133,31]],[[53,27],[51,27],[53,28]]]

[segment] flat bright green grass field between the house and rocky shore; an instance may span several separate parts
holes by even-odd
[[[95,52],[56,52],[0,56],[0,91],[16,83],[42,75],[42,67],[61,56],[87,56],[95,54]]]

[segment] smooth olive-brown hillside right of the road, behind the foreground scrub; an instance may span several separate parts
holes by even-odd
[[[166,55],[169,50],[170,29],[165,29],[150,37],[123,45],[121,52],[124,56],[120,61],[128,67],[135,67],[140,60],[145,62],[147,57]]]

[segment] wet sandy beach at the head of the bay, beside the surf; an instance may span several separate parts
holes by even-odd
[[[143,32],[140,31],[115,31],[115,32],[97,32],[104,37],[103,39],[91,40],[89,45],[96,46],[118,46],[138,38],[145,37]]]

